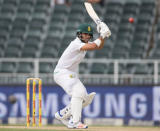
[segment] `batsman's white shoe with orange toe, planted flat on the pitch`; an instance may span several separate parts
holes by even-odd
[[[69,121],[68,123],[68,128],[71,128],[71,129],[86,129],[88,128],[87,125],[85,124],[82,124],[81,122],[78,122],[78,123],[73,123],[73,121]]]

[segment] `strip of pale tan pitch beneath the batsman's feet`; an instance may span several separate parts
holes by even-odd
[[[0,131],[160,131],[160,127],[110,127],[110,126],[89,126],[88,129],[68,129],[65,126],[3,126]]]

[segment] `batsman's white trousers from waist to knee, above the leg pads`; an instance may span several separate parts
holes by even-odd
[[[55,69],[54,80],[69,96],[86,99],[87,90],[79,80],[77,73],[67,69]]]

